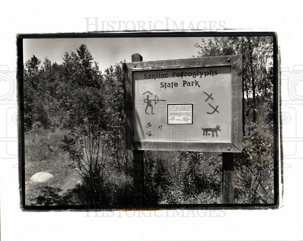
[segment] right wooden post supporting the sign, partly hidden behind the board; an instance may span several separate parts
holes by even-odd
[[[223,48],[223,55],[233,55],[233,47]],[[234,153],[222,152],[222,203],[234,203]]]

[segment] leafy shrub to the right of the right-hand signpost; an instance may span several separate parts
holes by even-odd
[[[235,155],[235,202],[273,203],[272,126],[251,123],[243,150]]]

